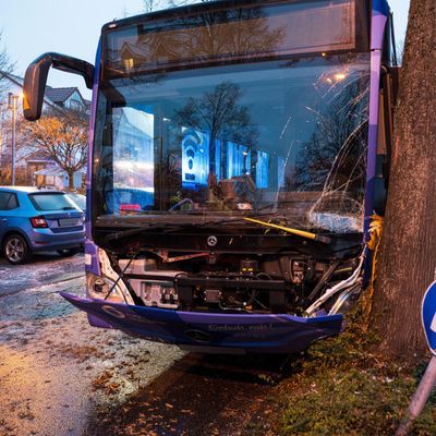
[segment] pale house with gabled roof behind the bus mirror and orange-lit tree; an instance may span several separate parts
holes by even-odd
[[[8,95],[22,95],[24,78],[0,71],[0,182],[9,182],[8,169],[12,161],[12,109],[8,106]],[[47,86],[44,97],[44,110],[73,109],[89,112],[90,101],[86,100],[78,88]],[[16,118],[22,120],[22,100],[17,100]],[[68,177],[51,159],[45,157],[33,144],[16,135],[15,170],[17,182],[33,185],[51,185],[59,189],[68,186]],[[3,172],[3,173],[2,173]],[[4,180],[2,180],[2,178]],[[74,177],[74,186],[82,187],[84,171]]]

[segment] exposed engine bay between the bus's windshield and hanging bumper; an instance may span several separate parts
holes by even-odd
[[[99,252],[100,257],[107,256]],[[106,299],[122,283],[135,305],[183,312],[338,313],[359,296],[362,258],[317,259],[301,253],[249,256],[141,251],[131,257],[112,253],[107,261],[117,280],[112,272],[111,282],[94,280],[88,290]],[[342,301],[339,306],[338,301]]]

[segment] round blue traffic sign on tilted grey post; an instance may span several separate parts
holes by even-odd
[[[408,434],[413,420],[424,409],[436,384],[436,281],[425,292],[421,316],[425,337],[433,356],[409,405],[408,416],[397,429],[396,436],[405,436]]]

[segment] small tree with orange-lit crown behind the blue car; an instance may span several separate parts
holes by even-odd
[[[41,152],[53,160],[69,177],[69,187],[74,187],[74,173],[86,165],[88,123],[82,113],[48,113],[35,123],[26,123],[25,131]]]

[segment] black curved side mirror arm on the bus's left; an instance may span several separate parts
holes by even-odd
[[[50,66],[82,75],[85,78],[86,86],[88,88],[93,87],[94,65],[90,63],[60,53],[41,55],[27,66],[24,76],[23,112],[24,118],[28,121],[36,121],[41,116]]]

